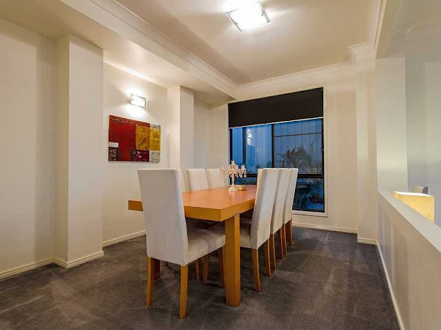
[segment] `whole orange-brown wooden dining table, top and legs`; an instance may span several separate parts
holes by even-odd
[[[229,306],[238,306],[240,304],[240,213],[254,208],[256,186],[247,186],[245,190],[237,192],[229,192],[228,188],[189,191],[183,192],[182,197],[185,217],[225,223],[226,303]],[[143,203],[141,199],[129,200],[128,208],[143,211]],[[155,265],[155,270],[156,266],[158,263]]]

